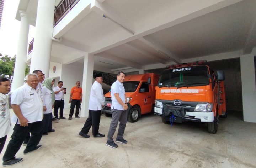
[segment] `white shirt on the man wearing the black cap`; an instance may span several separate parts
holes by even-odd
[[[95,81],[92,84],[91,88],[91,94],[90,94],[90,99],[89,99],[89,110],[101,110],[102,105],[104,105],[104,95],[103,95],[103,90],[102,86],[100,83]]]

